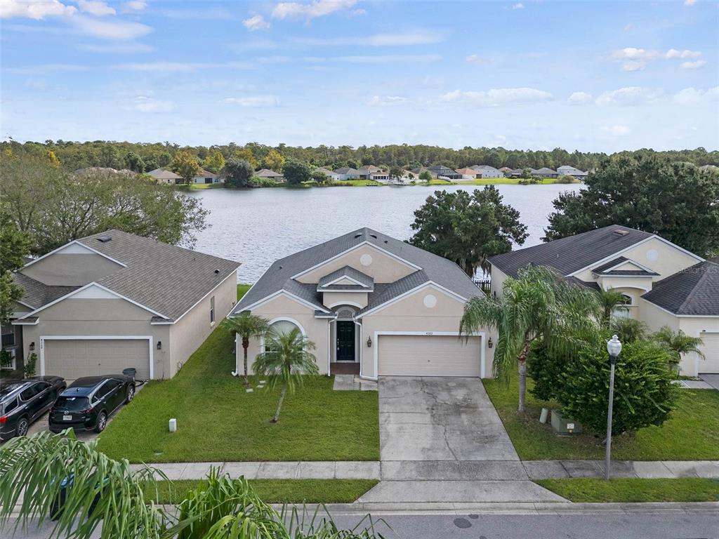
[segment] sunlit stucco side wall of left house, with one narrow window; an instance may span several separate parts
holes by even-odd
[[[210,298],[215,298],[215,321],[210,322]],[[193,354],[209,337],[210,333],[224,321],[225,316],[237,303],[237,272],[226,277],[212,292],[189,310],[179,321],[170,326],[169,376],[175,376],[178,365]]]

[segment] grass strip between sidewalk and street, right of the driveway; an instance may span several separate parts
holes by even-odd
[[[717,479],[542,479],[535,483],[572,502],[719,501]]]

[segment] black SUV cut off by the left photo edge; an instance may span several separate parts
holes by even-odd
[[[0,384],[0,440],[25,436],[67,384],[59,376],[37,376]]]

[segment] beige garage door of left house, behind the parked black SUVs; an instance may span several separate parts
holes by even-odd
[[[137,379],[150,378],[147,339],[73,339],[45,341],[45,374],[74,380],[137,369]]]

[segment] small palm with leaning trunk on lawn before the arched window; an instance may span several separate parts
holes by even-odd
[[[278,384],[282,385],[273,423],[280,420],[280,409],[287,390],[293,392],[295,387],[301,387],[303,375],[318,374],[317,359],[308,351],[314,348],[314,343],[298,328],[293,328],[289,333],[270,331],[265,336],[265,351],[257,355],[253,368],[256,373],[270,377],[267,389],[273,390]]]

